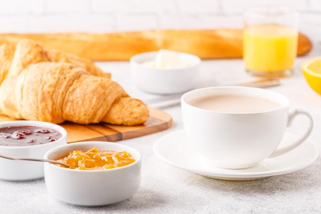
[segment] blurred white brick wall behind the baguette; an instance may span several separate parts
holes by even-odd
[[[240,28],[244,8],[269,3],[297,8],[321,41],[321,0],[0,0],[0,33]]]

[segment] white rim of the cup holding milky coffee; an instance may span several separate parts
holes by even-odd
[[[197,93],[197,92],[200,92],[200,91],[216,91],[216,90],[219,90],[219,89],[262,91],[262,92],[270,93],[271,95],[277,96],[278,98],[280,98],[280,100],[281,99],[284,100],[285,104],[282,104],[281,102],[275,101],[275,102],[281,104],[280,107],[277,108],[277,109],[273,109],[273,110],[270,110],[270,111],[253,112],[253,113],[251,113],[251,112],[250,113],[242,113],[242,112],[235,113],[235,112],[222,112],[222,111],[213,111],[213,110],[207,110],[207,109],[204,109],[204,108],[198,108],[198,107],[195,107],[195,106],[192,106],[192,105],[188,104],[187,101],[186,101],[186,96],[189,96],[189,95],[191,95],[193,93]],[[273,100],[273,99],[271,99],[271,100]],[[182,104],[184,103],[184,104],[188,105],[189,107],[197,109],[197,110],[203,110],[203,111],[207,111],[207,112],[214,112],[214,113],[221,113],[221,114],[260,114],[260,113],[268,113],[268,112],[274,112],[274,111],[278,111],[280,109],[287,108],[290,105],[290,101],[285,95],[276,93],[274,91],[266,90],[266,89],[263,89],[263,88],[246,87],[246,86],[214,86],[214,87],[207,87],[207,88],[199,88],[199,89],[195,89],[195,90],[192,90],[192,91],[188,91],[185,94],[183,94],[182,98],[180,99],[180,101],[182,102]]]

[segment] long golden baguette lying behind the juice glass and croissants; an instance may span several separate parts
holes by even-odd
[[[46,49],[59,49],[97,61],[129,60],[137,53],[169,49],[202,59],[242,57],[241,29],[153,30],[123,33],[0,34],[0,44],[16,44],[22,38],[41,42]],[[307,54],[312,43],[299,33],[297,55]]]

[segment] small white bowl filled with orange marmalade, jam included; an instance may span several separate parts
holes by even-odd
[[[107,206],[124,201],[141,183],[142,155],[119,143],[80,142],[56,147],[45,159],[45,182],[58,200],[77,206]]]

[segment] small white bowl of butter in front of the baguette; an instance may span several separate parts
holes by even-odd
[[[131,75],[136,86],[155,94],[192,89],[199,64],[198,56],[170,50],[141,53],[130,59]]]

